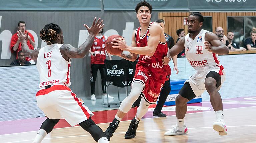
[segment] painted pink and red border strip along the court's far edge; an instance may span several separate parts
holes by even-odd
[[[223,108],[231,109],[231,108],[238,108],[238,107],[256,106],[256,97],[249,97],[250,99],[245,99],[245,98],[248,98],[248,97],[225,99],[223,100]],[[188,106],[210,107],[211,110],[213,110],[210,104],[210,101],[206,101],[203,103],[192,103],[192,104],[188,104]],[[205,110],[205,111],[211,111],[211,110]],[[125,115],[122,121],[133,119],[135,117],[136,111],[137,111],[136,108],[132,108]],[[94,116],[92,117],[92,119],[96,124],[112,122],[112,120],[116,115],[116,112],[117,110],[93,112]],[[188,111],[187,113],[197,113],[197,112],[204,112],[204,111],[196,110],[196,111]],[[175,111],[163,111],[163,113],[165,113],[167,116],[175,115]],[[153,114],[153,111],[148,111],[143,116],[143,118],[152,118],[154,117],[152,114]],[[0,135],[37,131],[45,119],[46,117],[2,121],[0,122]],[[63,127],[70,127],[70,125],[65,120],[60,120],[59,123],[54,128],[63,128]]]

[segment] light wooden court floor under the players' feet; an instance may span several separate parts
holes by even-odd
[[[186,115],[189,133],[179,136],[164,136],[176,123],[176,116],[141,120],[134,139],[124,139],[130,121],[123,121],[110,143],[255,143],[256,114],[254,107],[224,110],[228,135],[219,136],[213,130],[214,111]],[[109,123],[98,124],[103,131]],[[37,132],[1,135],[1,143],[31,143]],[[93,138],[81,127],[54,129],[42,143],[94,143]]]

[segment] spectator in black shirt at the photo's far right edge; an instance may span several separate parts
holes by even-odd
[[[244,41],[244,48],[246,48],[247,50],[256,50],[256,28],[254,27],[251,31],[251,37],[247,38]]]

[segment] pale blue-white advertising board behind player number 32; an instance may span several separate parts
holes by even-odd
[[[226,72],[226,81],[219,91],[222,99],[255,96],[256,54],[224,55],[219,56],[219,59]],[[170,61],[169,65],[172,69],[171,80],[188,79],[195,73],[186,58],[178,58],[178,75],[173,72],[172,61]],[[210,100],[207,92],[203,93],[202,100]]]

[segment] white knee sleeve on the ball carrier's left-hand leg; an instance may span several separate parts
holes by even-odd
[[[119,110],[123,113],[130,111],[132,104],[138,99],[143,90],[143,84],[135,82],[132,84],[132,89],[129,94],[121,103]]]

